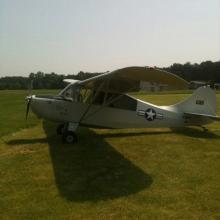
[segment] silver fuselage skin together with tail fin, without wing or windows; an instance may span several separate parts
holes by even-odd
[[[216,117],[216,96],[209,87],[200,87],[187,100],[172,106],[157,106],[136,99],[135,111],[95,104],[89,106],[61,96],[32,95],[30,100],[30,107],[37,116],[59,123],[70,123],[72,131],[78,125],[100,128],[202,126],[213,121],[209,116]],[[202,116],[193,117],[186,113]]]

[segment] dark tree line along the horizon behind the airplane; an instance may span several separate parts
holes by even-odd
[[[187,81],[205,81],[220,83],[220,61],[205,61],[200,64],[174,63],[169,67],[162,68],[174,73]],[[28,89],[32,83],[33,89],[61,89],[66,84],[64,79],[84,80],[101,73],[89,73],[80,71],[77,75],[60,75],[57,73],[30,73],[29,77],[10,76],[0,78],[0,90],[5,89]]]

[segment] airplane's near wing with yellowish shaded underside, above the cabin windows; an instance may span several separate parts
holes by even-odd
[[[79,81],[77,84],[88,89],[99,88],[99,91],[128,93],[139,91],[143,83],[165,85],[168,90],[188,88],[188,82],[184,79],[149,67],[126,67]]]

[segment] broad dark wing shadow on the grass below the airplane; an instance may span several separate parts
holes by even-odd
[[[55,124],[44,121],[57,187],[70,201],[128,196],[152,184],[152,178],[94,131],[79,128],[79,143],[64,145]]]

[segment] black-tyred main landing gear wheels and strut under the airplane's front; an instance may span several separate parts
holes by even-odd
[[[73,144],[78,141],[77,135],[75,133],[78,127],[78,123],[65,123],[60,124],[57,127],[57,134],[62,135],[62,141],[66,144]]]

